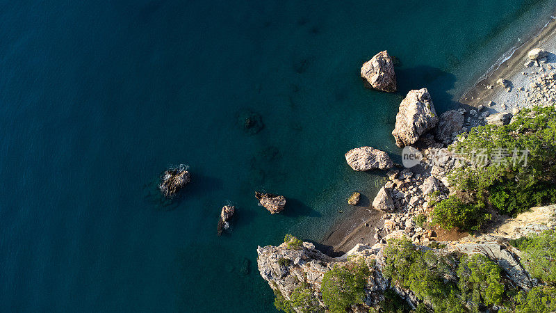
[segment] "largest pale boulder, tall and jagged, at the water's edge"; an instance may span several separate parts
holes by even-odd
[[[413,145],[439,122],[427,88],[411,90],[400,103],[392,135],[398,147]]]

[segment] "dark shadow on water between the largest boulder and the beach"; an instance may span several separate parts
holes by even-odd
[[[427,88],[436,111],[444,112],[457,109],[460,105],[448,93],[448,90],[454,88],[455,85],[456,78],[454,74],[428,65],[404,69],[396,68],[395,74],[398,79],[398,93],[401,93],[403,97],[407,95],[409,90]]]

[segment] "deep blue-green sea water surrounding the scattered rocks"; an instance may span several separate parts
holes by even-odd
[[[0,311],[262,312],[256,246],[319,241],[382,173],[410,89],[438,111],[553,1],[0,1]],[[400,91],[363,88],[388,49]],[[261,114],[247,134],[241,117]],[[162,206],[154,184],[193,180]],[[256,205],[266,190],[282,214]],[[216,236],[224,204],[232,232]]]

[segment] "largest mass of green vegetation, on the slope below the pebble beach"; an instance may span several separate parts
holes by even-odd
[[[433,220],[446,228],[475,230],[491,205],[515,216],[530,207],[556,202],[556,109],[523,109],[502,127],[475,127],[450,150],[467,161],[448,179],[475,200],[455,196],[436,204]]]

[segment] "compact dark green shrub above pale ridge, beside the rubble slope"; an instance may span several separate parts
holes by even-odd
[[[450,195],[434,206],[432,223],[446,230],[454,227],[460,230],[478,230],[486,220],[491,219],[489,214],[484,213],[484,207],[482,202],[466,204],[456,195]]]

